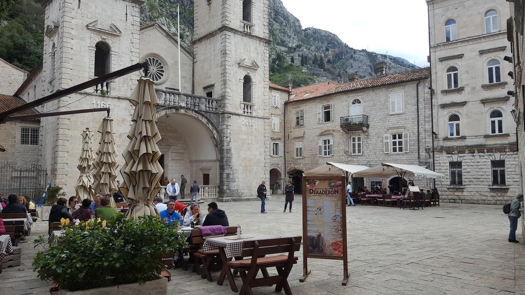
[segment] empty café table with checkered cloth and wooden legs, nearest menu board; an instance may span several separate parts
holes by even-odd
[[[238,290],[233,278],[233,273],[228,268],[228,261],[231,261],[234,257],[239,257],[242,259],[244,241],[264,240],[277,237],[264,234],[246,234],[243,236],[244,237],[241,239],[237,239],[237,236],[209,237],[205,238],[204,244],[202,245],[203,251],[219,249],[220,259],[223,262],[223,269],[220,270],[220,275],[217,279],[217,285],[222,286],[224,278],[228,277],[230,288],[234,292],[238,292]]]

